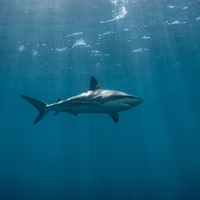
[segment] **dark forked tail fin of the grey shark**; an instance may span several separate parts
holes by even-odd
[[[20,95],[20,96],[26,101],[28,101],[30,104],[32,104],[39,111],[39,115],[37,116],[33,124],[36,124],[37,122],[39,122],[48,113],[48,110],[46,109],[46,106],[47,106],[46,103],[39,101],[37,99],[33,99],[31,97],[24,96],[24,95]]]

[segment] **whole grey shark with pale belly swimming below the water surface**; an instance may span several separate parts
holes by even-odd
[[[34,124],[39,122],[49,111],[54,111],[54,115],[60,112],[68,112],[75,116],[78,113],[107,113],[117,123],[119,121],[118,112],[128,110],[142,103],[141,98],[131,94],[116,90],[100,89],[94,76],[91,77],[90,88],[87,92],[66,100],[58,99],[57,102],[52,104],[47,104],[28,96],[20,96],[39,111]]]

